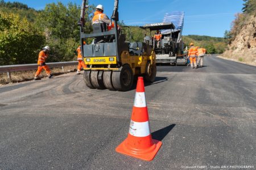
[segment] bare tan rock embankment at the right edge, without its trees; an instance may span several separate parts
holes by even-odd
[[[228,50],[221,56],[233,61],[256,65],[256,15],[249,18],[240,33],[228,45]]]

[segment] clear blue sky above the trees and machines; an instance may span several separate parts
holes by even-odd
[[[19,1],[19,0],[15,0]],[[11,1],[13,2],[13,1]],[[54,0],[19,1],[35,9],[42,9]],[[64,4],[81,0],[63,0]],[[114,0],[90,0],[95,5],[102,4],[105,13],[112,14]],[[162,22],[164,14],[171,11],[184,11],[183,35],[207,35],[223,37],[225,30],[230,29],[234,15],[241,12],[242,0],[120,0],[119,19],[127,25],[143,25]]]

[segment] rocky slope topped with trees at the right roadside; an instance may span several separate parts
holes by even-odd
[[[243,1],[243,12],[236,15],[232,28],[225,32],[229,45],[223,56],[256,65],[256,1]]]

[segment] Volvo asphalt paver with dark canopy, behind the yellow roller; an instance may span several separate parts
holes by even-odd
[[[156,63],[187,64],[187,57],[183,52],[184,43],[181,36],[184,12],[178,14],[166,14],[163,23],[146,24],[141,27],[145,29],[144,42],[151,45],[155,50]],[[160,31],[162,34],[159,46],[156,45],[154,36],[151,33],[152,31]],[[148,32],[150,32],[150,35],[147,35]]]

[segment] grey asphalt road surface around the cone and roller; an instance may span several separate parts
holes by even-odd
[[[256,67],[215,56],[199,69],[158,66],[146,84],[152,137],[163,142],[152,162],[115,152],[135,90],[92,90],[82,77],[0,87],[0,169],[256,168]]]

